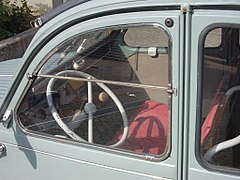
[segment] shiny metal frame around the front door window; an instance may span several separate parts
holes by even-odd
[[[84,79],[84,78],[78,78],[78,80],[83,80],[83,81],[93,81],[93,82],[103,82],[103,83],[106,83],[106,84],[114,84],[114,82],[116,83],[116,85],[123,85],[123,86],[131,86],[131,87],[140,87],[140,88],[146,88],[146,87],[150,87],[150,88],[153,88],[153,89],[163,89],[163,90],[169,90],[171,87],[171,84],[172,84],[172,36],[171,34],[167,31],[166,27],[162,26],[160,23],[130,23],[130,24],[120,24],[120,25],[113,25],[113,26],[105,26],[105,27],[101,27],[101,28],[96,28],[96,29],[91,29],[89,31],[83,31],[79,34],[75,34],[71,37],[68,37],[66,40],[62,41],[61,43],[57,44],[55,47],[53,47],[53,49],[56,49],[56,47],[59,47],[61,46],[61,44],[64,44],[66,43],[66,41],[68,41],[70,38],[73,38],[74,36],[80,36],[82,34],[85,34],[85,33],[88,33],[88,32],[91,32],[91,31],[96,31],[96,30],[101,30],[101,29],[106,29],[106,28],[112,28],[112,27],[116,27],[116,28],[124,28],[124,27],[141,27],[141,26],[151,26],[151,27],[156,27],[156,28],[159,28],[162,32],[165,33],[165,35],[167,36],[168,38],[168,82],[169,82],[169,85],[168,86],[151,86],[151,85],[148,85],[148,84],[135,84],[135,83],[127,83],[127,82],[117,82],[117,81],[110,81],[110,80],[88,80],[88,79]],[[66,30],[67,31],[67,30]],[[130,46],[129,46],[130,47]],[[135,48],[135,47],[134,47]],[[99,145],[99,144],[91,144],[91,143],[88,143],[88,142],[78,142],[78,141],[74,141],[72,139],[63,139],[63,138],[59,138],[59,137],[54,137],[50,134],[42,134],[40,132],[37,132],[37,131],[32,131],[32,130],[29,130],[29,129],[26,129],[22,123],[21,123],[21,120],[19,118],[19,108],[23,102],[23,99],[25,98],[26,94],[29,92],[29,90],[31,89],[31,86],[32,84],[34,83],[34,81],[36,80],[35,78],[37,77],[41,77],[41,75],[39,75],[38,73],[41,71],[41,68],[44,66],[44,64],[47,62],[48,58],[51,57],[56,51],[53,51],[52,50],[49,50],[48,51],[48,54],[41,60],[41,62],[36,66],[35,70],[34,70],[34,73],[33,74],[28,74],[28,83],[27,83],[27,86],[25,87],[24,91],[23,91],[23,94],[21,95],[21,98],[20,100],[18,101],[17,103],[17,106],[16,106],[16,117],[17,117],[17,125],[20,127],[20,129],[27,135],[31,135],[33,137],[39,137],[39,138],[43,138],[43,139],[49,139],[49,140],[54,140],[54,141],[60,141],[60,142],[63,142],[63,143],[67,143],[67,144],[73,144],[73,145],[77,145],[77,146],[82,146],[82,147],[87,147],[87,148],[92,148],[92,149],[97,149],[97,150],[100,150],[100,151],[104,151],[104,152],[111,152],[111,153],[115,153],[115,154],[119,154],[119,155],[127,155],[127,156],[130,156],[130,157],[137,157],[137,158],[140,158],[140,159],[145,159],[145,160],[150,160],[150,161],[154,161],[154,162],[159,162],[159,161],[163,161],[165,159],[167,159],[169,156],[170,156],[170,153],[171,153],[171,138],[172,138],[172,132],[171,132],[171,123],[172,123],[172,98],[169,98],[169,109],[168,109],[168,114],[169,114],[169,131],[168,131],[168,140],[167,140],[167,145],[166,145],[166,151],[161,154],[161,155],[155,155],[155,156],[152,156],[152,155],[149,155],[149,154],[138,154],[136,152],[130,152],[130,151],[127,151],[127,150],[124,150],[124,149],[112,149],[112,148],[109,148],[107,146],[104,146],[104,145]],[[140,85],[140,86],[139,86]],[[167,94],[167,92],[166,92]]]

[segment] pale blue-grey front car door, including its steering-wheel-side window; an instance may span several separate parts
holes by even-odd
[[[177,179],[180,11],[87,5],[40,28],[24,55],[1,177]]]

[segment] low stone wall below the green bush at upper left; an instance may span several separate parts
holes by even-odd
[[[22,57],[36,32],[33,28],[0,41],[0,62]]]

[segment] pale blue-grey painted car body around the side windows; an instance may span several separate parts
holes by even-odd
[[[166,18],[174,21],[172,27]],[[171,35],[172,96],[170,155],[161,161],[26,132],[17,107],[29,75],[51,49],[75,34],[124,24],[158,24]],[[39,28],[24,56],[0,63],[0,179],[240,179],[204,166],[196,155],[200,36],[217,24],[240,24],[238,0],[92,0],[68,9]],[[6,117],[6,116],[5,116]]]

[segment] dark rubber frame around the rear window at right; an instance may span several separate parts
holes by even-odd
[[[198,41],[198,83],[197,83],[197,108],[196,108],[196,132],[195,132],[195,158],[198,163],[206,170],[211,172],[221,172],[230,175],[240,175],[240,169],[214,165],[206,160],[204,160],[201,154],[201,118],[202,118],[202,97],[203,97],[203,70],[204,70],[204,46],[205,46],[205,39],[209,32],[217,28],[236,28],[240,29],[239,24],[232,24],[232,23],[214,23],[207,27],[205,27],[200,36]],[[240,33],[239,33],[240,36]],[[221,44],[218,47],[213,48],[221,48],[225,44],[225,40],[221,39]],[[239,46],[240,47],[240,46]],[[207,47],[212,48],[212,47]]]

